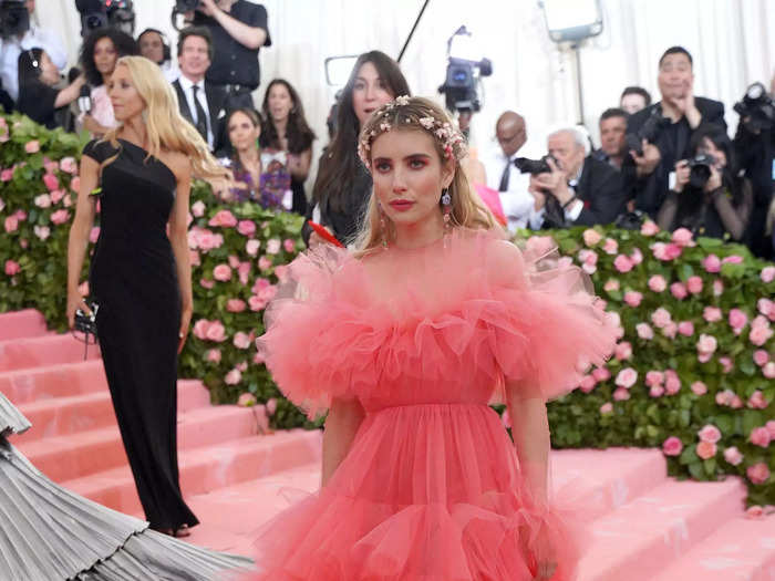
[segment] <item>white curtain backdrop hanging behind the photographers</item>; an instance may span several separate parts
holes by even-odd
[[[326,116],[335,87],[326,85],[323,60],[379,49],[397,56],[422,7],[422,0],[265,0],[272,46],[261,50],[264,98],[269,80],[281,76],[299,91],[308,121],[318,134],[314,158],[328,141]],[[737,117],[732,105],[745,87],[775,74],[775,1],[773,0],[601,0],[603,32],[581,49],[583,122],[598,143],[597,118],[617,106],[627,85],[641,85],[659,100],[657,64],[671,45],[694,58],[695,94],[723,101],[731,133]],[[175,43],[169,22],[173,0],[134,0],[135,33],[164,30]],[[80,46],[74,0],[38,0],[41,25],[59,31],[71,63]],[[548,128],[578,121],[576,61],[551,42],[536,0],[431,0],[401,68],[416,95],[441,101],[446,71],[446,40],[465,24],[493,75],[484,79],[484,107],[474,116],[472,139],[482,151],[495,146],[495,120],[515,110],[527,120],[531,149],[545,148]],[[174,48],[173,48],[174,52]],[[311,189],[308,181],[308,189]]]

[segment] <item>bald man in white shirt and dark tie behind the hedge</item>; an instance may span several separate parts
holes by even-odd
[[[525,118],[514,111],[505,112],[495,124],[495,136],[499,147],[484,159],[487,186],[499,193],[508,229],[514,232],[527,227],[533,207],[533,196],[527,190],[530,176],[514,166],[515,158],[525,156],[519,153],[527,142]]]

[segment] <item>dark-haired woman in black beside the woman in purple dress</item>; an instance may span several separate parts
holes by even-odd
[[[261,147],[287,153],[288,172],[293,191],[292,211],[307,212],[304,181],[312,160],[314,132],[304,117],[299,93],[285,79],[275,79],[267,86],[261,105],[266,127],[259,137]]]

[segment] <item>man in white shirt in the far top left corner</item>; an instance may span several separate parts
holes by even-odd
[[[24,6],[32,20],[35,0],[27,0]],[[13,101],[19,100],[19,54],[34,48],[43,49],[60,72],[68,64],[68,51],[59,35],[33,22],[30,22],[30,28],[23,34],[0,39],[0,81]]]

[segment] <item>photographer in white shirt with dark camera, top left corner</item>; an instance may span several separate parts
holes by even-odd
[[[19,54],[40,48],[45,51],[58,71],[68,64],[68,52],[53,30],[42,29],[32,22],[35,0],[0,0],[3,13],[17,12],[21,29],[0,39],[0,80],[2,87],[13,101],[19,98]],[[27,14],[23,11],[27,10]],[[25,17],[25,18],[23,18]]]

